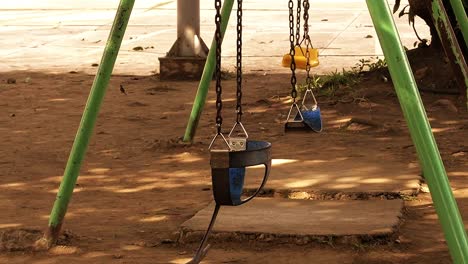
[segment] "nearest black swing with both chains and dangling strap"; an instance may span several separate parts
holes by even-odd
[[[237,105],[236,123],[228,137],[222,133],[222,86],[221,86],[221,0],[215,0],[216,8],[216,128],[217,133],[210,143],[210,165],[215,200],[215,209],[210,224],[203,236],[200,246],[189,261],[190,264],[200,263],[208,252],[210,245],[206,245],[213,229],[221,206],[238,206],[256,197],[265,186],[271,169],[271,144],[266,141],[248,139],[247,131],[242,124],[242,0],[237,0]],[[214,149],[215,142],[221,139],[221,149]],[[245,168],[264,165],[265,172],[260,187],[248,198],[242,199]]]

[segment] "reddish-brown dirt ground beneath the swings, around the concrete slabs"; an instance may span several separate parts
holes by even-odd
[[[8,78],[16,83],[7,84]],[[112,77],[60,245],[33,253],[18,251],[12,242],[12,236],[21,236],[18,230],[28,234],[23,239],[33,240],[47,226],[93,78],[0,74],[0,263],[185,263],[198,246],[174,242],[180,224],[212,199],[207,145],[215,132],[214,92],[195,143],[187,146],[180,137],[198,83],[151,76]],[[244,124],[252,138],[266,139],[273,148],[283,136],[288,81],[285,75],[245,77]],[[120,84],[127,94],[119,91]],[[234,79],[224,84],[227,130],[234,120]],[[468,221],[467,112],[453,95],[422,97]],[[363,76],[357,86],[318,99],[324,132],[310,134],[316,149],[339,142],[360,152],[383,149],[394,158],[417,161],[395,92],[380,75]],[[350,118],[377,126],[344,126]],[[205,263],[451,263],[424,185],[417,197],[404,198],[398,239],[384,245],[224,242],[213,245]]]

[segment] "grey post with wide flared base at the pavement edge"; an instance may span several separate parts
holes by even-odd
[[[159,58],[162,80],[201,77],[208,47],[200,36],[200,0],[177,0],[177,40]]]

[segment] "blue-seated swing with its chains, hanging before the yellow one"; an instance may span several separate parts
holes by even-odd
[[[298,1],[300,5],[300,1]],[[312,91],[312,77],[310,74],[310,70],[312,65],[310,64],[312,54],[309,52],[312,47],[312,42],[309,36],[309,1],[304,0],[304,36],[303,41],[306,45],[306,53],[305,53],[305,61],[306,61],[306,85],[307,89],[302,97],[301,106],[299,106],[296,102],[297,98],[297,78],[296,78],[296,48],[298,43],[298,32],[299,32],[299,19],[298,23],[296,24],[296,38],[294,38],[294,11],[293,6],[294,3],[292,0],[289,1],[289,25],[290,25],[290,54],[288,57],[291,59],[291,97],[293,99],[293,103],[289,109],[288,116],[286,118],[285,130],[309,130],[311,129],[314,132],[321,132],[322,131],[322,117],[320,113],[320,107],[318,106],[317,100],[315,98],[314,92]],[[298,16],[300,15],[300,8],[298,7]],[[296,45],[294,44],[294,40],[296,40]],[[317,64],[318,65],[318,64]]]

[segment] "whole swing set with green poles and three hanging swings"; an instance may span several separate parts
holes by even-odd
[[[452,2],[460,1],[461,0],[452,0]],[[39,246],[42,245],[43,247],[50,248],[57,241],[134,2],[135,0],[120,1],[116,18],[65,168],[57,199],[49,218],[49,226],[44,237],[38,241]],[[224,0],[224,5],[221,6],[221,0],[215,0],[216,32],[214,42],[212,44],[212,49],[209,51],[205,71],[200,81],[199,91],[197,92],[197,98],[195,98],[194,109],[192,109],[189,125],[187,126],[187,133],[185,135],[186,141],[191,141],[193,139],[200,117],[199,115],[201,114],[206,100],[209,80],[211,80],[213,76],[214,69],[212,66],[216,65],[217,130],[210,144],[210,165],[213,196],[216,207],[198,251],[189,263],[199,263],[206,255],[209,249],[209,246],[206,245],[207,239],[221,206],[239,206],[252,200],[265,186],[271,168],[271,144],[267,141],[250,140],[242,124],[242,0],[237,0],[237,118],[228,136],[226,137],[222,133],[221,44],[226,31],[227,21],[229,20],[229,15],[233,7],[233,2],[234,0]],[[437,4],[437,1],[434,1],[434,4]],[[461,4],[461,2],[459,4]],[[465,226],[450,188],[447,173],[432,134],[424,106],[422,105],[404,47],[401,44],[390,7],[385,0],[367,0],[367,5],[382,50],[384,51],[414,145],[419,155],[421,167],[424,170],[425,178],[429,185],[453,262],[468,263],[468,238],[465,232]],[[282,65],[291,67],[291,97],[293,103],[286,120],[285,128],[289,129],[290,127],[299,125],[319,132],[322,128],[320,109],[312,92],[310,76],[310,68],[317,66],[319,62],[318,51],[312,47],[308,34],[309,1],[303,0],[303,2],[301,2],[301,0],[298,0],[295,35],[293,0],[289,0],[288,6],[290,53],[283,57]],[[300,39],[301,6],[304,7],[304,35],[302,40],[298,41],[298,39]],[[446,19],[446,21],[448,21],[448,19]],[[459,22],[468,24],[466,17],[465,21]],[[302,42],[305,43],[305,48],[301,47]],[[213,46],[215,47],[214,49]],[[303,96],[302,102],[299,104],[296,101],[296,67],[305,69],[307,72],[307,91]],[[310,104],[304,99],[307,97],[311,98],[312,102]],[[243,183],[246,176],[245,168],[256,165],[263,165],[265,167],[263,180],[252,196],[243,199]]]

